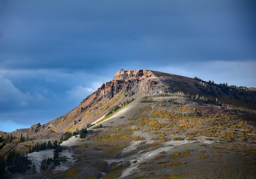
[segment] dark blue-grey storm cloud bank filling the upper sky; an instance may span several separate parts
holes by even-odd
[[[92,69],[95,61],[108,67],[137,59],[252,59],[254,14],[249,2],[236,1],[6,1],[1,66]]]

